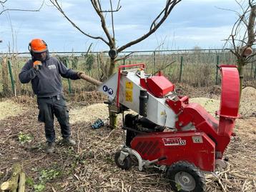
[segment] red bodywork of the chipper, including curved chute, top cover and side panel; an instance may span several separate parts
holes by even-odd
[[[215,160],[222,158],[238,118],[240,81],[235,66],[220,66],[222,74],[222,94],[220,121],[213,118],[205,108],[197,103],[189,103],[187,96],[179,96],[177,101],[166,99],[166,104],[177,114],[177,131],[139,133],[131,142],[131,148],[143,159],[171,165],[177,161],[189,161],[203,171],[214,171]],[[164,97],[174,86],[164,76],[141,79],[141,86],[156,97]],[[185,126],[194,126],[190,131],[182,131]]]

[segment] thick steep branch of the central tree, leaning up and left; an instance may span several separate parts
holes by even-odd
[[[104,19],[104,16],[102,15],[102,7],[100,5],[99,0],[91,0],[92,6],[94,7],[94,10],[97,12],[101,23],[102,23],[102,29],[104,31],[104,33],[107,36],[107,39],[109,39],[109,43],[107,44],[109,46],[110,49],[114,48],[114,41],[112,39],[112,36],[109,34],[109,30],[107,29],[106,26],[106,21]]]

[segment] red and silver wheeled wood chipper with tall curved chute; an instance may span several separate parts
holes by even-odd
[[[204,191],[203,172],[225,167],[223,153],[239,117],[240,81],[236,66],[221,65],[222,93],[216,120],[198,103],[189,103],[162,72],[146,74],[144,64],[119,66],[99,86],[109,99],[109,110],[123,113],[125,141],[115,162],[127,170],[131,156],[144,166],[167,171],[174,191]],[[124,111],[131,109],[134,113]]]

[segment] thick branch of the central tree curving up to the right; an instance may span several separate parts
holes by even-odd
[[[167,0],[167,4],[166,4],[165,8],[160,12],[160,14],[156,17],[156,19],[154,19],[154,21],[152,22],[151,27],[150,27],[149,31],[147,32],[147,34],[144,34],[143,36],[139,37],[138,39],[136,39],[134,41],[130,41],[128,44],[125,44],[124,46],[121,46],[119,49],[117,49],[117,52],[121,52],[124,49],[127,49],[127,47],[129,47],[129,46],[132,46],[134,44],[139,43],[140,41],[143,41],[144,39],[147,39],[148,36],[150,36],[155,31],[157,31],[159,26],[161,26],[162,23],[167,19],[167,17],[171,13],[172,9],[174,8],[174,6],[176,4],[179,3],[179,1],[181,1],[181,0],[172,0],[172,1]],[[161,19],[159,20],[159,23],[157,23],[157,20],[159,18],[161,18]]]

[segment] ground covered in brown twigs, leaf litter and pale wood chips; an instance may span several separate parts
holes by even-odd
[[[252,103],[249,106],[253,106],[255,95],[253,90],[252,94],[250,91],[245,91],[244,98],[247,103]],[[193,98],[190,101],[193,101]],[[203,101],[202,105],[206,105],[210,113],[219,108],[215,101],[200,101]],[[19,106],[16,101],[14,103],[15,108]],[[123,143],[122,129],[119,127],[112,130],[106,126],[96,130],[90,128],[95,119],[107,118],[107,105],[97,103],[72,108],[72,138],[77,141],[77,146],[66,148],[58,144],[54,154],[46,155],[44,125],[37,122],[36,103],[22,103],[25,103],[21,105],[29,107],[29,110],[0,120],[0,182],[9,178],[11,165],[19,161],[23,163],[26,176],[33,179],[34,185],[44,181],[44,191],[171,191],[168,179],[157,168],[144,168],[143,171],[138,171],[137,161],[133,161],[129,171],[122,171],[115,165],[114,153]],[[237,120],[236,136],[232,137],[225,152],[225,156],[229,157],[227,168],[217,170],[216,176],[206,174],[206,191],[256,191],[256,118],[252,115],[255,108],[249,111],[247,114],[251,115]],[[55,125],[56,136],[59,137],[59,125]],[[31,143],[21,144],[19,132],[31,134]],[[59,171],[59,175],[46,180],[42,178],[42,172],[46,170]],[[34,191],[33,185],[26,187],[27,191]]]

